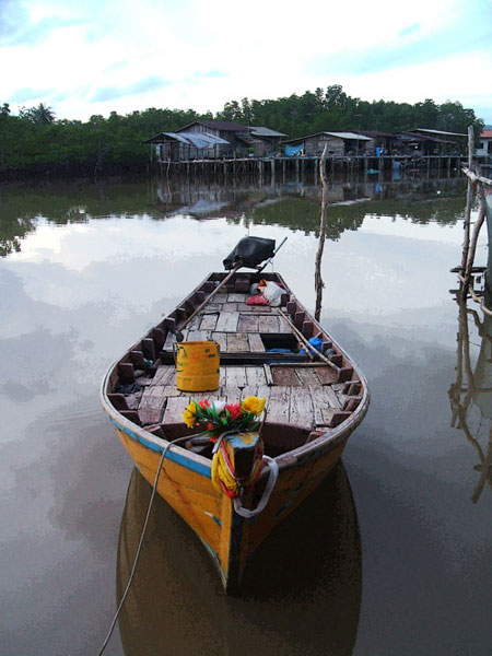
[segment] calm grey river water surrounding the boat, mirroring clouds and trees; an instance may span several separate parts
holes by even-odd
[[[333,183],[330,200],[321,324],[370,412],[242,597],[159,500],[106,654],[491,654],[492,330],[472,315],[485,391],[453,387],[464,186]],[[0,190],[2,654],[96,654],[126,584],[149,487],[99,407],[109,364],[246,234],[289,237],[276,269],[313,309],[318,202],[302,183]]]

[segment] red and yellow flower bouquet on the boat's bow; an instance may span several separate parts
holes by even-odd
[[[225,403],[224,401],[191,400],[183,413],[186,425],[199,427],[212,442],[226,431],[243,433],[256,431],[259,415],[265,410],[267,399],[247,396],[242,401]]]

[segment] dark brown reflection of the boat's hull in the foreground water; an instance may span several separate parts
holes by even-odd
[[[118,602],[151,487],[133,470],[121,519]],[[191,529],[156,495],[119,617],[126,654],[351,654],[362,589],[356,511],[342,464],[265,541],[241,597],[223,594]]]

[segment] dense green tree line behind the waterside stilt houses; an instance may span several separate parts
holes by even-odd
[[[194,109],[149,108],[87,121],[57,119],[40,104],[13,115],[9,104],[0,108],[0,176],[46,177],[110,175],[143,172],[149,147],[143,142],[160,132],[172,132],[198,119],[232,120],[245,126],[266,126],[289,138],[324,130],[379,130],[397,132],[431,128],[476,136],[483,121],[459,102],[436,104],[427,98],[413,105],[391,101],[366,102],[351,97],[339,84],[277,99],[225,103],[215,115]]]

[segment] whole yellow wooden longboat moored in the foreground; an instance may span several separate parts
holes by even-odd
[[[102,388],[104,409],[151,484],[164,457],[156,490],[201,539],[226,591],[238,585],[266,536],[339,460],[370,398],[363,373],[281,276],[260,272],[263,267],[239,271],[241,263],[229,273],[208,276],[110,367]],[[247,304],[260,279],[282,288],[278,307]],[[219,389],[177,389],[174,348],[179,331],[188,342],[220,344]],[[321,344],[317,355],[308,341],[313,338]],[[298,347],[305,352],[296,352]],[[271,351],[277,348],[291,352]],[[212,444],[191,437],[196,430],[185,425],[183,413],[191,399],[233,403],[247,396],[267,399],[260,438],[268,465],[253,488],[231,499],[212,484]],[[245,468],[253,466],[253,452],[249,445],[242,450],[238,442],[227,442],[227,449],[236,470],[243,468],[241,483]],[[253,446],[258,454],[258,443]]]

